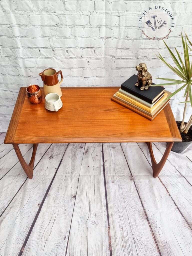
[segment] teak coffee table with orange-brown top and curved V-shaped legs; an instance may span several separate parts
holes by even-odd
[[[26,88],[20,88],[4,143],[13,144],[29,179],[33,177],[38,143],[146,142],[153,176],[157,177],[173,142],[182,141],[169,104],[150,121],[111,101],[119,87],[64,87],[61,90],[63,106],[55,112],[45,109],[44,97],[41,103],[31,104]],[[159,163],[155,161],[152,142],[168,142]],[[29,164],[18,143],[33,143]]]

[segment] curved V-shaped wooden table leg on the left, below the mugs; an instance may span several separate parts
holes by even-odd
[[[35,154],[37,151],[37,146],[38,144],[33,144],[33,153],[31,156],[31,160],[29,162],[29,164],[27,164],[21,154],[20,148],[18,146],[18,144],[13,144],[14,150],[17,154],[17,157],[19,159],[19,162],[21,164],[21,166],[23,167],[25,173],[27,174],[29,179],[33,178],[33,167],[34,167],[34,162],[35,162]]]

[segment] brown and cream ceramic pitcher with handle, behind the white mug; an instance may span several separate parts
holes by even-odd
[[[59,81],[58,79],[59,74],[61,74],[61,81]],[[60,84],[63,81],[63,75],[61,70],[56,72],[55,69],[48,68],[48,69],[45,69],[43,72],[39,73],[39,76],[41,76],[41,79],[43,81],[44,97],[48,93],[52,93],[52,92],[59,94],[59,97],[62,96]]]

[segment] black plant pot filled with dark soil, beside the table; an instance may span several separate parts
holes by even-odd
[[[181,121],[176,121],[178,129],[180,129]],[[186,124],[186,123],[185,123]],[[182,142],[174,142],[171,151],[182,153],[192,141],[192,126],[189,128],[188,133],[180,133]]]

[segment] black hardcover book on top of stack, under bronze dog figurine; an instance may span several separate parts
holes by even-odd
[[[140,98],[150,104],[152,104],[164,91],[164,87],[161,86],[155,86],[155,87],[149,87],[148,90],[140,90],[140,87],[135,86],[137,82],[137,76],[133,75],[129,79],[127,79],[124,83],[121,85],[121,89],[129,92],[130,94],[136,96],[137,98]],[[155,84],[155,83],[152,83]]]

